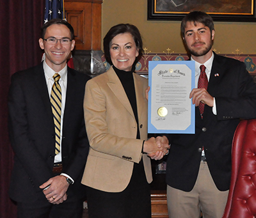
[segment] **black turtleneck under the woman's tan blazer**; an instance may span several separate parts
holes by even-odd
[[[118,78],[120,79],[123,87],[124,87],[124,91],[127,95],[127,98],[129,99],[129,102],[131,104],[132,107],[132,111],[134,113],[134,117],[136,119],[137,122],[137,139],[140,139],[140,131],[139,131],[139,121],[138,121],[138,111],[137,111],[137,103],[136,103],[136,93],[135,93],[135,87],[134,87],[134,79],[133,79],[133,75],[132,73],[135,70],[135,65],[132,66],[132,70],[131,71],[124,71],[124,70],[119,70],[118,68],[116,68],[113,65],[113,69],[116,72],[116,75],[118,76]]]

